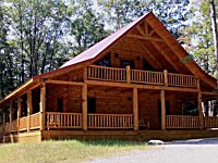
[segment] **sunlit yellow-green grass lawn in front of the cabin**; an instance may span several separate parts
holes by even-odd
[[[116,140],[9,143],[0,146],[0,163],[81,163],[147,148],[145,142]]]

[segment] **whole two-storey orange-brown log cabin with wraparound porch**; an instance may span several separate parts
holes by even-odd
[[[0,101],[2,142],[218,136],[206,74],[149,12]]]

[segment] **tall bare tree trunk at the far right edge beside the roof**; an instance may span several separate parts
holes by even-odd
[[[218,89],[218,35],[217,35],[217,23],[216,23],[216,9],[214,0],[209,0],[209,9],[210,9],[210,18],[211,18],[211,28],[214,35],[214,43],[215,43],[215,58],[216,58],[216,78],[217,78],[217,88]]]

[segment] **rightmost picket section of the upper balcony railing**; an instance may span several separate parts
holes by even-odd
[[[168,85],[181,86],[181,87],[196,87],[197,78],[192,75],[180,75],[180,74],[168,73]]]

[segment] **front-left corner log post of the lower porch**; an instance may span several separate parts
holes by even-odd
[[[46,128],[46,83],[40,85],[40,130]]]

